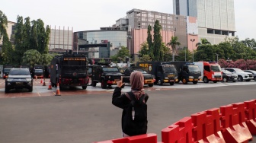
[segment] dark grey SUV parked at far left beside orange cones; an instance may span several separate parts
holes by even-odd
[[[33,78],[28,68],[11,68],[8,78],[5,79],[5,93],[11,89],[27,88],[33,91]]]

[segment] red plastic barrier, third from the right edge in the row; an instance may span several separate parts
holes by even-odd
[[[225,142],[220,126],[218,108],[191,115],[194,128],[193,138],[197,142]]]

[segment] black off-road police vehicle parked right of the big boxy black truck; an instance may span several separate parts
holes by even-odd
[[[91,85],[96,87],[97,83],[101,83],[101,88],[117,84],[123,75],[117,66],[110,66],[107,63],[98,63],[91,66]]]

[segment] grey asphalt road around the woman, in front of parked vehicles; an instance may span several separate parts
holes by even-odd
[[[174,85],[146,89],[149,94],[148,133],[156,133],[158,141],[161,141],[162,129],[185,116],[256,99],[255,84],[181,86],[183,88]],[[184,89],[185,86],[190,88]],[[121,138],[122,110],[111,104],[112,91],[79,95],[72,92],[60,97],[0,98],[0,142],[85,143]],[[250,142],[256,142],[255,136]]]

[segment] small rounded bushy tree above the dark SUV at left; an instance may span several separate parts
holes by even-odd
[[[34,67],[34,65],[42,65],[42,62],[42,56],[37,49],[27,50],[22,57],[22,64],[29,64],[30,68]]]

